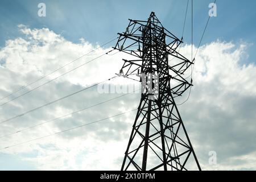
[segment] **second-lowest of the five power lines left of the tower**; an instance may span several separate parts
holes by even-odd
[[[136,92],[136,91],[137,91],[137,90],[134,90],[134,92]],[[7,134],[7,135],[3,135],[3,136],[0,137],[0,138],[10,137],[11,135],[20,133],[20,132],[22,132],[22,131],[26,131],[26,130],[32,129],[32,128],[34,128],[34,127],[38,127],[38,126],[44,125],[44,124],[46,124],[46,123],[49,123],[49,122],[52,122],[52,121],[56,121],[57,119],[65,118],[65,117],[67,117],[68,115],[80,113],[81,111],[85,111],[85,110],[87,110],[87,109],[90,109],[90,108],[92,108],[92,107],[95,107],[95,106],[98,106],[98,105],[101,105],[101,104],[105,104],[106,102],[110,102],[110,101],[116,100],[117,98],[121,98],[121,97],[123,97],[123,96],[127,96],[127,95],[129,95],[129,94],[131,94],[131,93],[134,93],[134,92],[126,93],[126,94],[123,94],[122,96],[114,97],[114,98],[111,98],[110,100],[102,101],[102,102],[100,102],[100,103],[98,103],[98,104],[95,104],[95,105],[92,105],[92,106],[89,106],[89,107],[85,107],[84,109],[80,109],[80,110],[77,110],[77,111],[73,111],[72,113],[69,113],[69,114],[61,115],[60,117],[57,117],[57,118],[54,118],[54,119],[50,119],[50,120],[48,120],[48,121],[46,121],[46,122],[39,123],[38,125],[33,125],[33,126],[30,126],[30,127],[25,128],[25,129],[15,131],[14,133],[10,133],[10,134]]]

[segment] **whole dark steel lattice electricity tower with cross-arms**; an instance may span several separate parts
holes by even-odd
[[[137,59],[124,60],[120,73],[147,86],[143,86],[121,170],[188,170],[192,164],[200,170],[174,100],[192,86],[183,76],[193,61],[176,51],[182,39],[166,30],[154,12],[147,21],[129,20],[114,48]]]

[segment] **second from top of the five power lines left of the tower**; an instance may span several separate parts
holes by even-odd
[[[112,49],[111,51],[113,51],[113,49]],[[92,60],[90,60],[90,61],[87,61],[86,63],[81,64],[81,65],[79,65],[78,67],[73,68],[73,69],[69,70],[68,72],[63,73],[63,74],[61,74],[60,76],[57,76],[57,77],[53,78],[52,80],[49,80],[49,81],[45,82],[45,83],[42,84],[42,85],[36,86],[34,89],[28,90],[27,92],[21,94],[20,96],[14,97],[13,99],[11,99],[11,100],[9,100],[9,101],[7,101],[7,102],[1,104],[0,106],[6,105],[6,104],[8,104],[8,103],[11,102],[11,101],[16,100],[17,98],[22,97],[22,96],[24,96],[24,95],[26,95],[26,94],[28,94],[28,93],[30,93],[30,92],[32,92],[32,91],[34,91],[34,90],[40,88],[41,86],[44,86],[44,85],[48,84],[49,82],[52,82],[52,81],[56,80],[57,78],[60,78],[61,76],[67,75],[68,73],[70,73],[70,72],[72,72],[72,71],[75,71],[76,69],[78,69],[78,68],[80,68],[80,67],[82,67],[82,66],[84,66],[84,65],[86,65],[86,64],[88,64],[88,63],[90,63],[90,62],[92,62],[92,61],[94,61],[94,60],[96,60],[96,59],[98,59],[98,58],[100,58],[100,57],[106,55],[106,54],[108,54],[108,53],[111,52],[111,51],[108,51],[108,52],[106,52],[106,53],[104,53],[104,54],[102,54],[102,55],[100,55],[100,56],[98,56],[98,57],[96,57],[96,58],[94,58],[94,59],[92,59]]]

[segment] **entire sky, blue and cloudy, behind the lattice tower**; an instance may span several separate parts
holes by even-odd
[[[46,4],[46,17],[38,16],[40,2]],[[193,1],[194,50],[204,30],[210,2]],[[115,40],[100,46],[124,31],[129,18],[144,20],[154,11],[163,26],[181,38],[187,0],[13,0],[1,1],[0,5],[0,169],[120,169],[135,118],[133,110],[139,104],[138,93],[101,93],[96,86],[10,118],[115,76],[122,59],[128,56],[115,51],[104,55]],[[189,100],[178,107],[204,170],[256,169],[255,5],[253,0],[242,4],[217,1],[217,17],[210,18],[197,53]],[[189,10],[180,49],[187,57],[191,54],[190,13]],[[101,57],[85,64],[98,56]],[[83,66],[77,68],[80,65]],[[73,68],[77,69],[69,72]],[[61,76],[66,72],[69,73]],[[121,77],[106,84],[139,86],[138,82]],[[177,104],[187,97],[185,93]],[[108,102],[100,104],[104,101]],[[85,110],[73,113],[82,109]],[[53,120],[63,115],[66,116]],[[114,115],[117,116],[109,118]],[[99,122],[65,131],[95,121]],[[51,135],[59,131],[65,132]],[[211,151],[216,152],[214,165],[209,163]]]

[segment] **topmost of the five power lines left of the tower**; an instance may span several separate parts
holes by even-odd
[[[115,37],[115,36],[114,36],[114,37]],[[69,65],[69,64],[71,64],[71,63],[74,63],[75,61],[81,59],[81,58],[84,57],[84,56],[89,55],[90,53],[96,51],[97,49],[99,49],[99,48],[101,48],[101,47],[106,46],[107,44],[113,42],[113,41],[116,40],[116,39],[118,39],[118,37],[115,38],[115,39],[111,38],[111,40],[109,40],[108,42],[102,44],[101,46],[97,47],[96,49],[93,49],[92,51],[90,51],[90,52],[88,52],[88,53],[85,53],[84,55],[82,55],[82,56],[80,56],[80,57],[77,57],[77,59],[75,59],[75,60],[69,61],[67,64],[62,65],[60,68],[55,69],[55,70],[52,71],[51,73],[48,73],[47,75],[44,75],[44,76],[38,78],[37,80],[30,82],[30,83],[27,84],[27,85],[21,86],[20,88],[16,89],[14,92],[11,92],[10,94],[8,94],[8,95],[3,96],[2,98],[0,98],[0,101],[3,100],[3,99],[6,98],[6,97],[9,97],[9,96],[13,95],[14,93],[19,92],[19,90],[23,90],[24,88],[27,88],[28,86],[34,84],[35,82],[38,82],[38,81],[42,80],[43,78],[46,78],[46,77],[48,77],[49,75],[52,75],[52,73],[55,73],[55,72],[59,71],[61,68],[64,68],[64,67],[66,67],[67,65]]]

